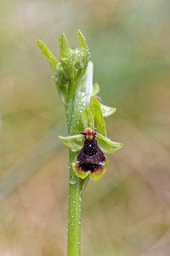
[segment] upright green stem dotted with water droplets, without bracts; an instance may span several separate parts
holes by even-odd
[[[75,84],[69,83],[67,120],[69,135],[75,133],[76,124],[72,123],[74,114]],[[69,216],[68,216],[68,256],[79,256],[81,248],[81,207],[82,192],[80,178],[75,175],[71,163],[75,160],[77,153],[70,150],[70,178],[69,178]]]

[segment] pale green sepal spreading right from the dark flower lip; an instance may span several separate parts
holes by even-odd
[[[109,138],[97,133],[96,140],[98,142],[99,148],[105,154],[111,154],[116,152],[118,149],[122,148],[121,143],[112,142]]]

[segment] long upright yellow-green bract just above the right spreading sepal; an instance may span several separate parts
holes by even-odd
[[[98,100],[95,99],[93,96],[90,99],[89,108],[94,114],[94,127],[96,128],[96,131],[106,137],[107,135],[105,130],[105,121],[101,113],[101,108],[99,107]]]

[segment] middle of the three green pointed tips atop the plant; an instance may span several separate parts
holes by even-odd
[[[59,35],[59,59],[68,79],[74,79],[74,64],[65,33]]]

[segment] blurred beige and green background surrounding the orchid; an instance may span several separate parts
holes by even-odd
[[[83,194],[82,256],[170,255],[169,24],[169,0],[1,0],[0,255],[66,255],[65,109],[36,40],[59,57],[77,28],[124,145]]]

